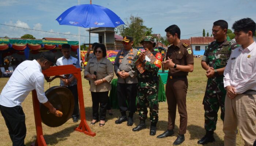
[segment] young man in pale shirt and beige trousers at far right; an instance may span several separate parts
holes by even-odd
[[[255,22],[250,18],[236,21],[232,29],[241,46],[229,58],[224,71],[225,118],[223,123],[225,146],[236,145],[237,126],[246,146],[256,139],[256,43],[253,36]]]

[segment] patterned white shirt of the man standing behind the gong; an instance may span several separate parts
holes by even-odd
[[[76,68],[81,68],[79,61],[77,58],[70,56],[68,59],[63,57],[60,57],[59,59],[57,59],[56,64],[59,65],[74,65]],[[71,78],[73,75],[70,74],[68,78]],[[74,86],[77,84],[76,79],[74,79],[69,86]],[[65,86],[64,82],[62,80],[60,80],[60,86]],[[66,86],[68,87],[68,86]]]

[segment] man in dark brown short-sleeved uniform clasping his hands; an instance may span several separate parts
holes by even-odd
[[[168,127],[157,138],[173,136],[176,107],[180,114],[179,135],[173,145],[179,145],[185,141],[184,134],[187,130],[186,95],[188,89],[188,72],[193,72],[193,50],[186,43],[180,41],[180,28],[171,25],[165,29],[167,41],[172,44],[168,47],[166,60],[163,61],[164,69],[169,69],[166,83],[166,99],[168,104]]]

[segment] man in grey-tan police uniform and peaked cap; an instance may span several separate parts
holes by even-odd
[[[132,70],[132,64],[137,57],[138,50],[133,49],[133,38],[130,36],[124,36],[123,41],[124,49],[117,53],[114,72],[117,79],[117,98],[118,105],[121,112],[121,117],[116,120],[116,124],[121,124],[127,121],[127,126],[133,125],[133,113],[136,111],[135,101],[137,95],[137,74]],[[126,103],[128,100],[128,106]],[[129,111],[127,119],[126,111]]]

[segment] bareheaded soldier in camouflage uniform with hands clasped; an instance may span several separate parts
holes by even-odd
[[[217,113],[220,107],[221,119],[224,121],[226,90],[223,84],[223,72],[231,51],[237,47],[236,43],[227,37],[227,28],[228,24],[224,20],[213,23],[212,34],[216,41],[208,44],[201,62],[208,78],[203,99],[206,135],[197,142],[202,145],[215,141],[213,133],[216,129]]]

